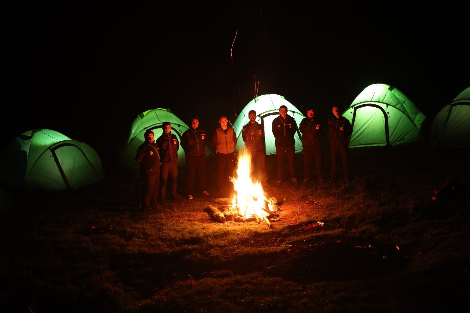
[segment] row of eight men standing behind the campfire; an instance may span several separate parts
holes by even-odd
[[[284,162],[287,159],[290,180],[298,184],[294,168],[295,140],[294,135],[301,133],[304,155],[304,179],[303,183],[312,180],[313,162],[316,175],[320,183],[325,180],[323,168],[323,137],[328,134],[331,152],[330,183],[337,180],[339,175],[338,157],[341,156],[342,172],[345,184],[349,184],[348,145],[352,133],[349,121],[339,115],[339,107],[333,106],[333,116],[327,123],[315,117],[315,108],[308,107],[307,117],[298,126],[295,119],[287,114],[288,109],[282,105],[279,108],[279,116],[274,118],[272,131],[277,158],[276,185],[281,186],[284,181]],[[243,126],[242,139],[246,149],[251,155],[253,174],[257,174],[258,180],[267,184],[266,173],[266,141],[263,126],[256,121],[256,111],[248,112],[250,122]],[[157,208],[159,203],[165,202],[166,184],[171,179],[171,197],[178,198],[176,192],[176,180],[178,176],[178,149],[180,143],[178,137],[171,132],[170,122],[162,124],[163,133],[157,140],[152,131],[145,132],[145,141],[137,149],[135,160],[141,164],[141,207],[145,210]],[[187,191],[188,200],[195,195],[195,176],[199,178],[199,189],[204,196],[209,196],[206,188],[205,163],[207,133],[199,127],[199,117],[191,118],[191,126],[181,136],[181,147],[185,151],[188,169]],[[226,116],[219,117],[219,127],[212,133],[211,145],[217,156],[218,190],[224,192],[231,186],[229,176],[235,175],[236,156],[235,146],[237,138],[233,127],[228,125]],[[255,171],[256,169],[256,171]],[[255,173],[256,172],[256,173]]]

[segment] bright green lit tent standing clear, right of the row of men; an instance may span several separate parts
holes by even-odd
[[[397,88],[370,85],[343,112],[352,125],[349,147],[396,146],[423,139],[426,117]]]

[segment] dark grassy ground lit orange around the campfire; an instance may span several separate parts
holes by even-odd
[[[0,211],[1,311],[468,312],[468,152],[350,149],[349,186],[270,177],[271,229],[204,211],[228,201],[213,158],[209,197],[186,200],[181,168],[181,199],[157,211],[133,206],[118,171],[71,191],[7,189],[16,206]],[[268,156],[269,173],[275,165]],[[431,201],[452,177],[455,189]]]

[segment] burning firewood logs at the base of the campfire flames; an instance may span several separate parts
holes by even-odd
[[[279,220],[279,207],[277,205],[277,199],[271,197],[269,199],[264,199],[264,208],[261,208],[262,213],[251,213],[250,216],[243,216],[240,214],[241,210],[239,208],[234,208],[233,204],[220,204],[218,207],[209,205],[205,208],[204,211],[209,213],[211,219],[224,223],[227,221],[235,222],[253,222],[257,221],[258,224],[262,220],[266,222],[269,228],[272,228],[271,221]],[[226,201],[228,202],[228,201]]]

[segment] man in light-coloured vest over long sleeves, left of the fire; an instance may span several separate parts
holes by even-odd
[[[229,176],[235,174],[235,145],[236,136],[233,127],[227,125],[226,116],[219,117],[219,127],[212,135],[212,147],[217,154],[217,174],[220,193],[228,187]],[[231,182],[230,182],[231,184]]]

